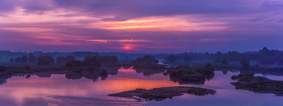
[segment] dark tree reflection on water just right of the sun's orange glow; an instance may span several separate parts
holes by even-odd
[[[166,69],[149,69],[149,68],[133,68],[133,69],[136,70],[137,73],[142,72],[144,76],[150,76],[153,74],[158,74],[166,71]]]

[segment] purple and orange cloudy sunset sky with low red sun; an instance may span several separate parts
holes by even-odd
[[[0,50],[283,50],[282,0],[0,0]]]

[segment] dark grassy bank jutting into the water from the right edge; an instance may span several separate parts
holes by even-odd
[[[265,77],[253,76],[253,74],[238,74],[231,77],[238,82],[231,82],[236,89],[249,90],[257,93],[273,93],[283,96],[283,81],[270,80]]]

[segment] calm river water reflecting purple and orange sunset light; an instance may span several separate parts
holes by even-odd
[[[163,71],[108,69],[102,80],[97,73],[73,74],[67,71],[42,72],[13,76],[0,85],[0,105],[5,106],[60,106],[60,105],[283,105],[283,97],[236,90],[230,82],[238,71],[215,71],[215,76],[204,83],[173,82]],[[67,74],[64,74],[67,73]],[[283,80],[280,75],[255,74],[272,80]],[[172,80],[172,79],[171,79]],[[174,80],[175,81],[175,80]],[[106,96],[136,88],[194,86],[216,90],[215,95],[182,95],[172,100],[138,101]]]

